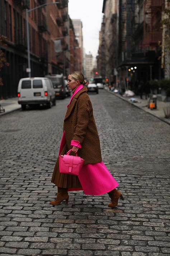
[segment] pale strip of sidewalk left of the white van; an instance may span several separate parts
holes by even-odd
[[[0,105],[5,109],[5,112],[0,112],[0,116],[21,108],[21,105],[18,104],[17,97],[6,100],[0,100]]]

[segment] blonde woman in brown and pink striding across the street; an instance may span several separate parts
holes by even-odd
[[[119,184],[110,174],[101,159],[100,141],[93,116],[93,108],[84,86],[86,80],[80,71],[70,73],[67,85],[72,90],[70,103],[64,119],[64,132],[59,155],[69,149],[84,158],[84,165],[79,176],[59,172],[59,159],[53,170],[52,180],[58,187],[57,198],[50,202],[59,205],[69,200],[68,191],[84,190],[87,195],[108,193],[111,198],[109,207],[118,205],[118,199],[124,200],[121,192],[115,189]]]

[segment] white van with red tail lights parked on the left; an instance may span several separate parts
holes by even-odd
[[[27,104],[46,104],[48,108],[56,105],[52,82],[46,77],[21,78],[18,84],[18,103],[23,110]]]

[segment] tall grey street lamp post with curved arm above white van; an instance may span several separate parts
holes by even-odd
[[[43,6],[46,6],[46,5],[49,5],[49,4],[58,4],[60,2],[52,2],[52,3],[46,3],[46,4],[41,4],[41,5],[38,5],[37,7],[35,8],[32,8],[32,9],[26,9],[26,22],[27,22],[27,54],[28,54],[28,76],[31,77],[31,63],[30,63],[30,47],[29,47],[29,23],[28,23],[28,13],[38,9],[38,8],[41,8]]]

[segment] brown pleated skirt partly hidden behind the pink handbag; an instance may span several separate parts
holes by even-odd
[[[65,144],[60,154],[64,155],[68,151],[69,149],[67,148],[67,144]],[[81,183],[79,181],[78,176],[60,173],[59,158],[57,158],[51,182],[60,188],[81,188]]]

